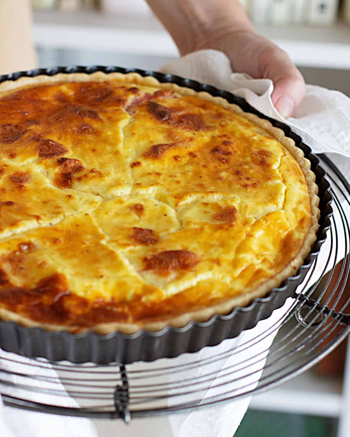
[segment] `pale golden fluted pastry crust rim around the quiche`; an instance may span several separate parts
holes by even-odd
[[[281,144],[288,149],[288,151],[294,156],[296,161],[298,162],[302,172],[304,173],[306,183],[308,185],[308,190],[310,194],[310,202],[311,202],[311,212],[312,212],[312,224],[308,233],[304,238],[304,242],[301,246],[301,250],[298,255],[290,261],[290,263],[284,267],[284,269],[279,272],[276,276],[270,278],[268,281],[261,284],[255,290],[250,291],[244,295],[235,296],[234,298],[229,298],[223,302],[220,302],[216,305],[207,307],[205,309],[199,309],[192,312],[186,312],[180,316],[171,317],[168,319],[164,319],[157,322],[147,322],[147,323],[100,323],[95,326],[92,326],[87,329],[79,329],[74,326],[61,326],[54,325],[49,323],[38,323],[27,317],[21,316],[15,312],[9,311],[4,308],[0,308],[0,319],[2,320],[11,320],[16,322],[22,326],[27,327],[41,327],[43,329],[49,331],[76,331],[79,329],[79,332],[84,331],[93,331],[98,334],[109,334],[114,331],[119,331],[126,334],[132,334],[140,329],[146,329],[149,331],[159,331],[166,326],[172,327],[183,327],[186,326],[187,323],[192,321],[194,322],[205,322],[210,319],[215,314],[228,314],[235,307],[244,307],[250,304],[254,298],[262,298],[267,295],[267,293],[271,290],[271,288],[278,287],[282,281],[284,281],[288,276],[295,274],[298,268],[303,263],[304,259],[308,256],[312,245],[316,241],[316,232],[319,228],[319,197],[318,197],[318,186],[315,184],[315,174],[310,170],[311,164],[310,161],[304,157],[304,153],[301,149],[295,146],[295,142],[284,135],[284,132],[275,128],[271,125],[270,121],[259,118],[255,114],[250,114],[244,112],[239,106],[235,104],[230,104],[222,97],[213,97],[211,94],[208,94],[204,91],[197,92],[192,90],[191,88],[179,87],[174,83],[160,83],[156,78],[147,76],[143,77],[138,73],[102,73],[96,72],[92,74],[87,73],[59,73],[55,76],[35,76],[35,77],[21,77],[16,81],[5,81],[0,83],[0,97],[3,97],[6,94],[12,93],[14,90],[18,90],[21,88],[32,87],[39,84],[50,84],[50,83],[58,83],[58,82],[87,82],[87,81],[97,81],[103,82],[105,80],[117,80],[121,83],[137,83],[143,86],[157,87],[157,88],[166,88],[173,90],[181,95],[190,95],[201,97],[204,100],[215,102],[223,106],[224,108],[228,108],[231,111],[236,112],[241,116],[244,116],[248,120],[250,120],[254,125],[263,128],[267,132],[270,133],[275,139],[277,139]]]

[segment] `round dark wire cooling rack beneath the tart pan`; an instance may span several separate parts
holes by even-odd
[[[0,390],[4,403],[128,422],[213,406],[273,388],[329,354],[350,331],[346,293],[350,185],[327,156],[319,157],[331,183],[331,227],[305,281],[269,319],[219,346],[153,363],[80,365],[3,352]]]

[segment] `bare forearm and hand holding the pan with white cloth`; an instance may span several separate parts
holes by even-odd
[[[147,0],[181,55],[201,49],[224,52],[236,73],[271,79],[272,103],[282,117],[293,115],[305,82],[287,53],[257,35],[239,0]]]

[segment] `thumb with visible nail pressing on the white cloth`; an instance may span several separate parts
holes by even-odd
[[[305,96],[305,82],[287,53],[277,46],[272,50],[269,59],[263,58],[260,64],[263,68],[262,76],[273,81],[272,103],[283,118],[288,118],[294,114]]]

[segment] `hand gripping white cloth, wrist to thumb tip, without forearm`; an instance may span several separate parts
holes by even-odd
[[[271,79],[271,99],[284,118],[294,114],[305,96],[305,82],[286,52],[253,30],[237,30],[217,37],[215,33],[195,50],[216,49],[230,59],[233,71],[248,73],[254,79]]]

